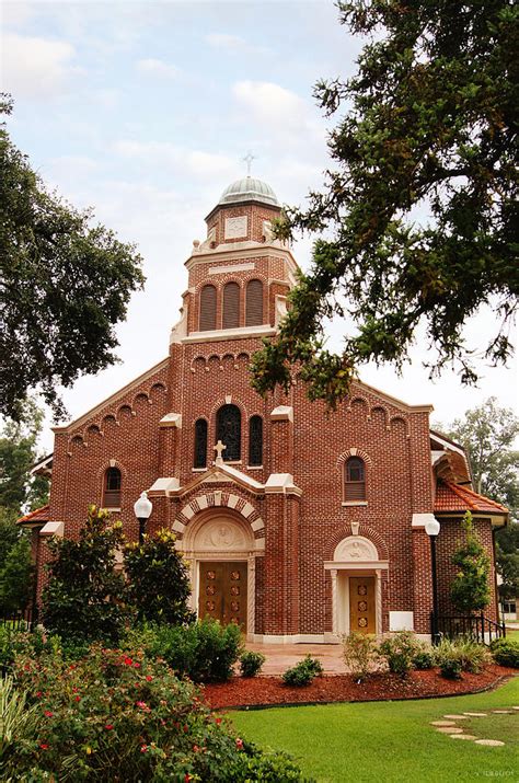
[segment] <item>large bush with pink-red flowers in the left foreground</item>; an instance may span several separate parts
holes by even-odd
[[[73,663],[59,650],[21,653],[13,670],[37,721],[3,759],[8,780],[301,780],[287,757],[237,737],[189,680],[141,650],[93,645]]]

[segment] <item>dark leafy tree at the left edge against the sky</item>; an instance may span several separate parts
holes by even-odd
[[[59,384],[116,360],[114,326],[142,287],[141,257],[91,218],[49,193],[0,126],[0,413],[12,418],[35,388],[62,413]]]

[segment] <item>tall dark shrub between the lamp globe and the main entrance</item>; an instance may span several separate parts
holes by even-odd
[[[125,571],[128,600],[137,609],[139,620],[172,625],[194,620],[187,608],[188,569],[175,549],[175,536],[171,531],[159,530],[155,536],[146,536],[141,544],[128,544]]]

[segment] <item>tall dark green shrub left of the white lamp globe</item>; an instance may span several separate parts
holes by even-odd
[[[106,510],[90,506],[77,541],[53,537],[48,543],[54,560],[47,566],[42,621],[49,633],[69,643],[117,643],[124,629],[125,580],[114,569],[123,526],[109,526],[108,520]]]

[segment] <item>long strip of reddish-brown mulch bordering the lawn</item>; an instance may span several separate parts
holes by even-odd
[[[438,669],[412,671],[404,680],[396,675],[378,672],[359,683],[351,675],[325,675],[303,688],[289,688],[282,684],[280,677],[233,677],[229,682],[206,686],[204,694],[214,710],[427,699],[487,690],[516,675],[516,669],[496,665],[487,666],[478,675],[463,673],[461,680],[447,680]]]

